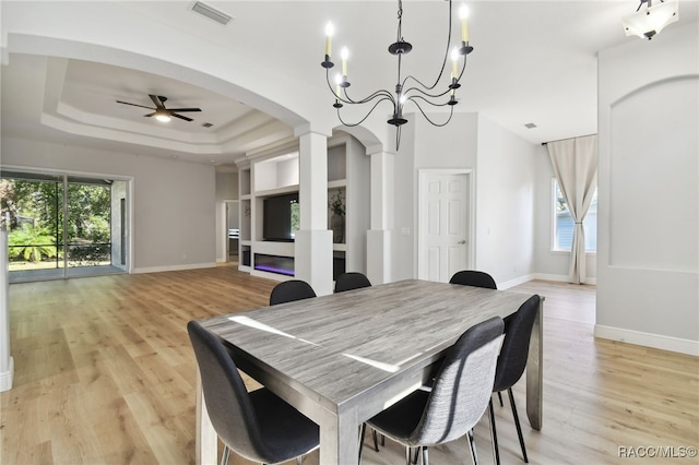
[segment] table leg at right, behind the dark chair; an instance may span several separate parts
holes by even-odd
[[[534,319],[526,359],[526,416],[537,431],[542,429],[544,404],[544,299]]]

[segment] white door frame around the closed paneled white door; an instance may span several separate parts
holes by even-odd
[[[424,168],[417,170],[417,278],[425,279],[427,276],[427,264],[424,263],[423,257],[425,251],[425,237],[427,227],[427,177],[430,175],[465,175],[467,182],[465,204],[469,208],[467,227],[466,227],[466,267],[473,269],[475,263],[475,182],[473,169],[465,168]]]

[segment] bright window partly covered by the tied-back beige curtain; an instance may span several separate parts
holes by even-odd
[[[560,189],[558,188],[558,181],[556,178],[552,182],[552,199],[553,199],[553,245],[552,250],[570,252],[572,248],[572,231],[574,222],[570,215],[568,203],[564,199]],[[597,251],[597,189],[595,188],[592,195],[592,203],[590,210],[585,215],[585,219],[582,222],[585,229],[585,251]]]

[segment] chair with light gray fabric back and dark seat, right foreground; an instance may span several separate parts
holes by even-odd
[[[367,421],[405,445],[407,465],[412,448],[428,465],[429,446],[463,436],[469,437],[473,463],[478,463],[473,427],[488,408],[503,326],[502,319],[494,317],[469,329],[449,349],[430,391],[414,391]]]

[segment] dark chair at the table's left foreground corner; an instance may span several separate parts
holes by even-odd
[[[196,321],[187,323],[201,374],[206,412],[224,443],[221,465],[230,451],[261,464],[301,456],[320,444],[318,425],[265,388],[248,392],[228,351]]]

